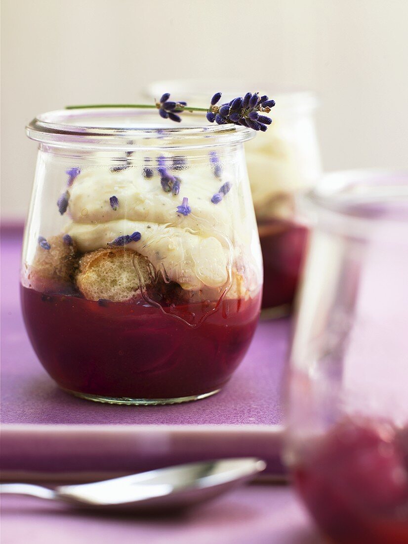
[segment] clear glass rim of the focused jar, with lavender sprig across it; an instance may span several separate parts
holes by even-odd
[[[157,110],[77,108],[38,115],[26,126],[32,140],[62,147],[118,149],[200,148],[246,141],[255,134],[247,127],[205,125],[204,116],[188,114],[183,125],[160,118]],[[199,118],[199,120],[198,120]],[[169,125],[168,123],[174,123]]]

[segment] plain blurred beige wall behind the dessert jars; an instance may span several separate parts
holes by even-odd
[[[154,79],[261,76],[272,96],[276,85],[313,89],[325,169],[408,166],[406,0],[1,4],[4,219],[26,215],[30,119],[66,104],[131,102]]]

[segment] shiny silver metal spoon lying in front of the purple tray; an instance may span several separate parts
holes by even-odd
[[[0,493],[62,500],[77,507],[98,509],[179,509],[212,499],[252,479],[265,467],[264,461],[255,458],[219,459],[55,489],[32,484],[2,484]]]

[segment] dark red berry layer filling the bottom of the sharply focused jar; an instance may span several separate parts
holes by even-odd
[[[252,340],[260,296],[160,307],[21,286],[28,335],[57,384],[130,399],[189,397],[222,387]]]

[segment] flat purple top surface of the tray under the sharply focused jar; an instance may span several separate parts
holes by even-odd
[[[2,423],[280,423],[279,390],[288,344],[287,320],[261,322],[229,384],[208,399],[173,406],[111,406],[60,391],[37,360],[22,322],[18,294],[21,231],[4,228],[1,242]]]

